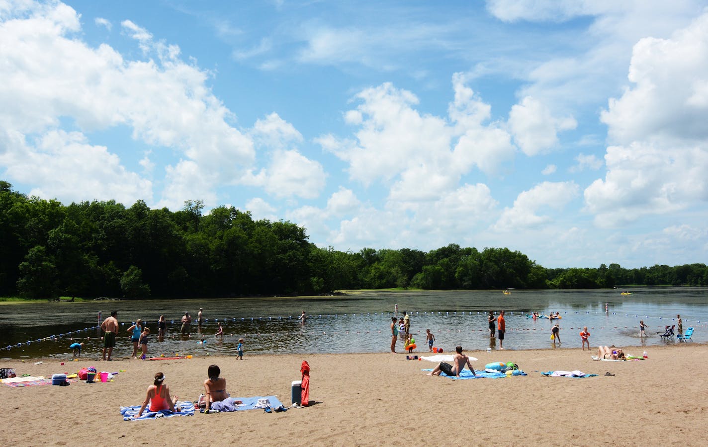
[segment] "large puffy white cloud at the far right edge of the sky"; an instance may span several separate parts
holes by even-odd
[[[602,114],[612,146],[604,179],[585,191],[600,226],[667,214],[708,200],[708,13],[668,39],[634,46],[632,86]]]

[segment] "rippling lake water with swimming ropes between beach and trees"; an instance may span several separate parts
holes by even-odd
[[[623,296],[619,290],[564,291],[370,291],[350,296],[316,298],[238,298],[184,301],[93,301],[90,303],[33,303],[0,306],[0,358],[71,356],[69,344],[86,342],[83,355],[100,356],[101,334],[97,315],[103,318],[118,310],[121,333],[114,355],[130,356],[132,344],[127,327],[137,318],[152,330],[149,354],[224,355],[235,354],[239,338],[244,338],[245,355],[259,353],[387,352],[391,316],[396,304],[399,315],[411,315],[411,332],[425,349],[425,331],[435,334],[436,346],[445,351],[462,344],[467,350],[496,349],[490,339],[486,315],[489,310],[506,311],[507,349],[552,349],[547,319],[537,321],[526,315],[536,310],[548,314],[559,311],[562,319],[561,345],[580,347],[578,332],[590,331],[590,344],[646,346],[664,344],[657,331],[673,325],[677,314],[684,330],[695,327],[693,339],[708,342],[707,288],[634,288]],[[607,312],[605,312],[607,303]],[[201,333],[193,321],[191,337],[179,334],[185,311],[196,320],[204,308]],[[297,317],[305,310],[309,318],[301,324]],[[158,340],[156,321],[167,319],[167,337]],[[217,319],[224,327],[223,340],[214,337]],[[639,337],[639,320],[649,325],[649,337]],[[555,321],[554,321],[555,323]],[[78,332],[77,332],[78,331]],[[47,337],[55,336],[53,340]],[[206,344],[198,344],[201,337]],[[42,339],[42,341],[38,341]],[[73,339],[73,340],[72,340]],[[29,342],[29,344],[28,344]],[[668,343],[675,343],[670,341]],[[21,344],[21,346],[17,346]],[[10,347],[7,349],[7,347]],[[424,350],[423,350],[424,349]],[[403,351],[399,343],[398,351]]]

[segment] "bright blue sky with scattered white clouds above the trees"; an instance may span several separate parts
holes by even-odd
[[[0,178],[336,250],[705,262],[702,1],[0,0]]]

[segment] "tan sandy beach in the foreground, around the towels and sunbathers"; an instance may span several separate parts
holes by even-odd
[[[641,356],[641,347],[625,352]],[[405,354],[258,355],[103,362],[95,357],[0,361],[18,376],[51,377],[81,366],[119,371],[109,383],[76,382],[11,388],[0,385],[0,443],[35,445],[602,446],[702,445],[708,442],[707,347],[647,348],[646,361],[593,361],[579,348],[466,352],[476,368],[514,361],[528,376],[455,381],[427,376],[430,361]],[[118,353],[121,354],[121,353]],[[129,353],[128,353],[129,354]],[[418,355],[428,355],[418,352]],[[35,365],[36,361],[42,364]],[[157,371],[180,400],[196,400],[207,366],[218,364],[232,396],[277,395],[290,405],[299,366],[312,368],[314,405],[282,413],[261,410],[123,421],[121,405],[139,405]],[[540,371],[595,373],[549,378]],[[615,376],[605,376],[610,372]]]

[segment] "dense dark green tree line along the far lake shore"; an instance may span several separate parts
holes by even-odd
[[[64,205],[0,180],[0,296],[273,296],[341,289],[593,289],[704,286],[704,264],[547,269],[508,248],[423,252],[319,248],[289,221],[199,200],[183,209],[109,201]]]

